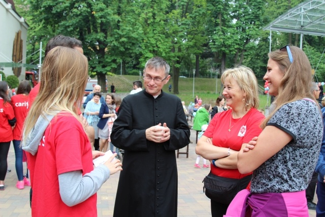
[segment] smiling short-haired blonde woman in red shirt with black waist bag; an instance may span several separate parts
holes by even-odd
[[[251,69],[244,66],[228,69],[222,73],[221,81],[222,95],[232,109],[215,114],[196,147],[196,153],[212,163],[205,179],[205,193],[211,199],[213,217],[222,217],[235,195],[247,187],[252,173],[238,171],[237,154],[262,132],[259,125],[264,119],[257,110],[257,80]],[[218,180],[216,188],[208,188],[209,177]],[[223,188],[225,185],[231,186],[227,189]]]

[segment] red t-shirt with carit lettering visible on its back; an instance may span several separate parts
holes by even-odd
[[[21,140],[22,128],[27,116],[28,96],[23,94],[11,98],[11,104],[15,112],[16,126],[13,131],[14,140]]]

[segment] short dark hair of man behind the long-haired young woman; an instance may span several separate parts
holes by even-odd
[[[57,46],[70,48],[82,47],[82,42],[69,36],[57,35],[54,38],[51,38],[50,41],[46,44],[45,56],[51,49]]]

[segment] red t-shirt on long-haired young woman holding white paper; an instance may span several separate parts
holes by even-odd
[[[71,114],[55,116],[44,132],[38,152],[27,154],[32,188],[32,216],[97,216],[97,195],[69,207],[59,194],[58,175],[93,170],[91,145],[81,123]],[[73,181],[73,180],[72,180]]]

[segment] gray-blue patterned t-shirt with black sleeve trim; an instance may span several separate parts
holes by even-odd
[[[271,117],[267,126],[279,128],[293,140],[253,172],[251,192],[306,190],[317,163],[323,134],[319,108],[309,100],[287,103]]]

